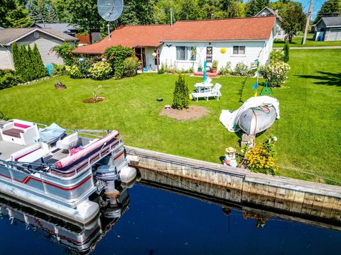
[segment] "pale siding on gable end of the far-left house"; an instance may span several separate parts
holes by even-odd
[[[55,55],[55,52],[52,51],[52,48],[54,46],[61,45],[63,41],[53,38],[50,35],[45,35],[44,33],[40,32],[37,33],[39,34],[39,38],[35,38],[33,35],[34,33],[31,33],[31,35],[28,35],[25,38],[18,40],[17,42],[18,45],[29,44],[31,47],[33,47],[34,43],[36,42],[41,58],[43,59],[43,63],[45,65],[51,63],[63,64],[63,59],[57,57]]]

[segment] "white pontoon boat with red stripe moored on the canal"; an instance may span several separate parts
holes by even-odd
[[[23,120],[1,124],[0,192],[75,222],[92,221],[99,205],[90,196],[106,193],[108,203],[114,203],[111,194],[117,197],[120,174],[124,173],[124,181],[136,176],[136,169],[128,166],[119,132],[106,131],[102,137],[94,132],[104,130],[40,126]],[[111,178],[97,176],[97,169]]]

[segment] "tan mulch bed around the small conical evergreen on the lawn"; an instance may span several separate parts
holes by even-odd
[[[209,113],[207,108],[202,106],[190,106],[188,109],[177,110],[177,109],[163,109],[160,115],[167,116],[169,118],[175,118],[179,121],[186,120],[197,120]]]

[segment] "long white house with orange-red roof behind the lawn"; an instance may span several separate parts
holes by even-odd
[[[259,59],[266,64],[273,44],[275,17],[227,18],[207,21],[178,21],[171,25],[122,26],[110,38],[77,47],[73,53],[102,55],[107,47],[132,47],[143,67],[156,70],[162,64],[177,69],[218,61],[218,69],[232,68]],[[158,54],[153,53],[158,52]]]

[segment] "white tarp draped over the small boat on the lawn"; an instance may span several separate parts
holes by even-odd
[[[274,106],[276,118],[279,119],[279,102],[276,98],[271,96],[255,96],[247,99],[236,111],[222,110],[219,120],[229,132],[238,132],[240,130],[238,126],[240,115],[247,109],[258,106]]]

